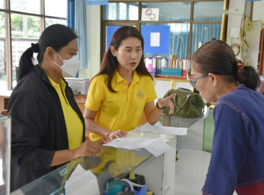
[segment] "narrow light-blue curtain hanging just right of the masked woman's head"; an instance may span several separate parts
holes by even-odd
[[[76,0],[75,1],[75,20],[74,29],[79,35],[78,39],[78,59],[81,61],[81,67],[88,68],[88,39],[87,39],[87,5],[86,1]],[[78,13],[78,14],[77,14]]]

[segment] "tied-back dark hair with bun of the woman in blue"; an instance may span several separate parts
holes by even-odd
[[[192,55],[191,62],[195,62],[195,67],[202,74],[222,75],[229,83],[245,84],[253,90],[260,84],[258,73],[251,66],[246,65],[245,72],[238,77],[236,56],[231,47],[221,40],[206,42]]]

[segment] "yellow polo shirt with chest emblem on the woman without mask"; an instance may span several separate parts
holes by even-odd
[[[97,123],[110,130],[133,130],[141,124],[145,104],[157,98],[154,82],[147,75],[139,75],[136,70],[130,86],[116,71],[112,86],[117,93],[108,90],[107,75],[97,75],[90,83],[85,107],[97,111]],[[101,136],[91,133],[92,141]]]

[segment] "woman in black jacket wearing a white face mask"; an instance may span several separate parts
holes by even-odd
[[[8,102],[12,118],[11,192],[72,159],[92,156],[101,145],[85,140],[83,115],[63,76],[75,77],[77,36],[53,24],[19,61],[19,83]],[[38,64],[33,65],[33,52]]]

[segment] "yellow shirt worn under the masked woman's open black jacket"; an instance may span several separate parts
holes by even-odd
[[[79,118],[79,115],[76,113],[76,111],[74,111],[74,109],[69,105],[65,95],[65,81],[60,79],[60,84],[56,84],[56,82],[51,78],[49,78],[49,81],[51,81],[51,85],[56,89],[60,98],[60,104],[63,107],[69,149],[78,148],[81,146],[81,143],[83,143],[83,123],[81,122],[81,119]]]

